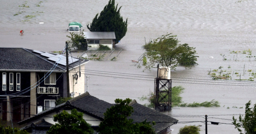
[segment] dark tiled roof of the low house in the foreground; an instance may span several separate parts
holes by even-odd
[[[178,120],[170,116],[167,116],[165,114],[152,110],[146,106],[138,104],[135,100],[133,100],[129,105],[132,106],[134,109],[134,112],[129,118],[133,119],[134,123],[143,122],[144,120],[146,120],[147,122],[156,122],[156,125],[153,126],[156,132],[160,132],[165,128],[168,128],[169,126],[172,126],[173,124],[178,122]],[[81,94],[80,96],[77,96],[67,101],[66,103],[56,106],[56,108],[50,108],[48,110],[36,114],[36,116],[30,117],[26,120],[22,120],[21,122],[18,122],[18,124],[24,124],[25,122],[42,117],[46,114],[56,111],[59,108],[64,108],[66,106],[69,106],[71,108],[77,108],[78,110],[86,114],[103,120],[104,112],[106,112],[107,108],[114,106],[114,104],[110,104],[108,102],[100,100],[86,92],[84,94]]]

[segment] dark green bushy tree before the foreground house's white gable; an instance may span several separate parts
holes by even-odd
[[[52,125],[47,134],[93,134],[91,125],[83,119],[83,113],[76,109],[71,114],[64,110],[54,115],[53,120],[58,124]]]

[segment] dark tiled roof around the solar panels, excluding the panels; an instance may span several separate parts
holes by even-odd
[[[47,60],[47,57],[41,56],[33,50],[25,48],[0,48],[0,70],[20,70],[20,71],[48,71],[52,70],[55,62]],[[82,62],[74,62],[70,64],[69,68],[79,66],[88,62],[83,60]],[[56,71],[65,71],[66,66],[58,64],[54,68]]]

